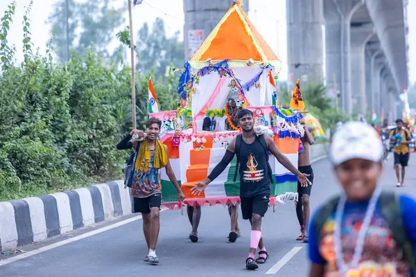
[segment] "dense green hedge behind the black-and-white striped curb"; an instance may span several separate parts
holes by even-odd
[[[87,49],[67,64],[31,50],[31,24],[24,18],[25,60],[7,46],[15,4],[1,19],[0,201],[41,195],[120,177],[128,152],[115,145],[132,128],[128,66],[114,66]],[[7,47],[6,47],[7,46]],[[137,119],[147,118],[148,79],[161,109],[174,109],[175,78],[137,76]]]

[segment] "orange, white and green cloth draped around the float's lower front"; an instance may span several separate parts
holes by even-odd
[[[240,202],[240,179],[234,182],[234,172],[236,168],[236,158],[225,168],[225,170],[213,181],[204,192],[200,195],[193,195],[191,188],[199,181],[203,181],[223,159],[225,147],[221,142],[213,142],[210,137],[203,143],[204,148],[197,148],[196,143],[181,141],[179,147],[173,147],[171,139],[164,141],[168,146],[169,161],[175,176],[180,184],[182,191],[187,196],[185,204],[198,206],[211,206],[216,204],[236,204]],[[295,165],[297,165],[297,151],[299,148],[299,139],[278,139],[275,141],[281,152]],[[275,178],[275,184],[271,187],[271,196],[283,195],[284,193],[297,192],[297,177],[289,172],[284,166],[281,166],[275,159],[270,156],[270,166],[272,168],[272,177]],[[177,205],[177,191],[171,181],[169,181],[165,170],[161,174],[162,183],[162,206],[173,209]],[[275,203],[273,198],[270,205]]]

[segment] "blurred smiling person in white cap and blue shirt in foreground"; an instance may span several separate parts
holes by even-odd
[[[415,277],[416,202],[383,191],[383,145],[361,122],[333,136],[329,157],[343,193],[315,211],[309,276]]]

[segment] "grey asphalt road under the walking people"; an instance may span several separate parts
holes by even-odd
[[[381,184],[416,197],[414,160],[415,158],[411,157],[405,188],[395,188],[397,181],[392,168],[392,158],[386,163]],[[315,181],[311,195],[312,209],[340,191],[326,159],[313,163],[313,170]],[[141,231],[141,220],[137,215],[122,217],[40,244],[22,247],[21,250],[26,253],[1,255],[0,276],[307,275],[307,245],[295,241],[300,231],[293,202],[279,204],[275,213],[272,208],[266,213],[263,220],[263,238],[270,258],[256,272],[245,270],[245,258],[250,245],[250,224],[241,218],[239,224],[242,237],[235,243],[229,243],[227,208],[204,207],[199,228],[200,240],[193,244],[187,238],[191,231],[187,217],[181,216],[180,211],[165,211],[161,213],[161,231],[157,245],[160,263],[150,265],[142,261],[146,256],[147,247]],[[92,235],[91,232],[96,234]],[[44,251],[45,247],[51,249]],[[27,257],[23,258],[25,256]]]

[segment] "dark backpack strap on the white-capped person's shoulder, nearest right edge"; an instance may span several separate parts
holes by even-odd
[[[416,274],[416,262],[413,255],[413,244],[408,238],[406,229],[404,228],[398,195],[393,192],[383,191],[380,195],[379,204],[381,208],[381,214],[383,215],[385,221],[387,221],[395,241],[403,251],[406,261],[410,263],[413,273]]]

